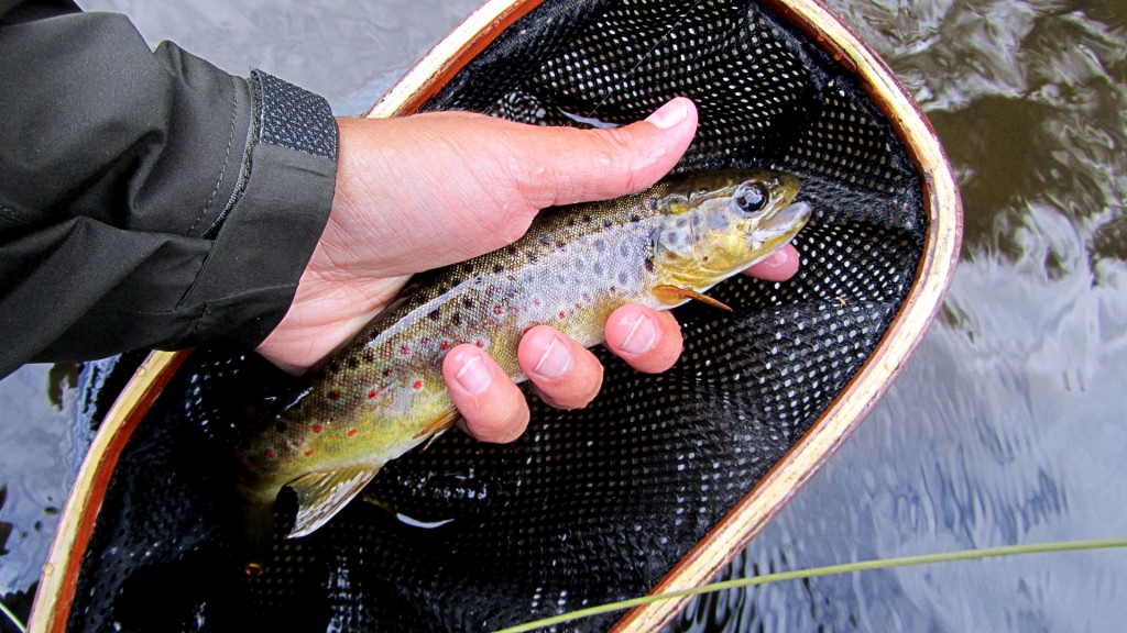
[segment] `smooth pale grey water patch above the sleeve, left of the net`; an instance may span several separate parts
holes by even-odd
[[[479,0],[79,0],[130,16],[150,45],[176,42],[221,69],[259,68],[325,96],[332,112],[366,112]]]

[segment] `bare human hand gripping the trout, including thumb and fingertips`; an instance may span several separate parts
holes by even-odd
[[[358,332],[412,274],[515,241],[541,208],[653,185],[689,146],[696,110],[674,99],[646,122],[589,131],[468,113],[338,124],[328,224],[293,304],[258,347],[295,374]],[[781,280],[797,268],[797,252],[787,247],[749,274]],[[606,345],[639,371],[663,372],[680,356],[682,339],[667,311],[627,305],[607,321]],[[548,327],[524,336],[518,357],[541,398],[556,407],[584,407],[602,384],[595,356]],[[468,433],[508,442],[524,431],[524,395],[485,351],[454,347],[443,374]]]

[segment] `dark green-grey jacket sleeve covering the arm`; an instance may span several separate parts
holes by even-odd
[[[126,18],[0,0],[0,377],[281,321],[328,219],[325,99]]]

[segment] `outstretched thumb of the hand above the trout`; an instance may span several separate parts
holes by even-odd
[[[675,98],[645,121],[622,127],[542,127],[518,144],[521,193],[533,208],[602,200],[640,191],[681,160],[696,132],[696,107]],[[550,152],[545,152],[550,149]]]

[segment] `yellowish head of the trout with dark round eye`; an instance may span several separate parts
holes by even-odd
[[[766,170],[726,170],[686,177],[657,198],[655,235],[662,283],[706,289],[763,260],[810,217],[795,202],[798,177]]]

